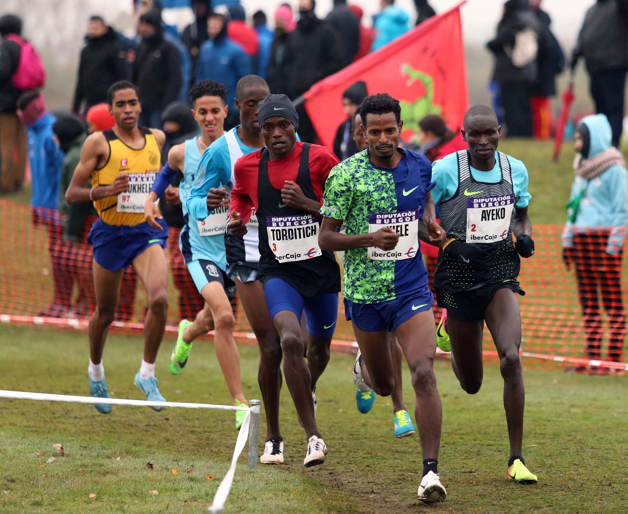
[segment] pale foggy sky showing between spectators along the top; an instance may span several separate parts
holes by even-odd
[[[247,18],[257,9],[263,9],[273,28],[274,9],[283,0],[242,0]],[[296,11],[297,0],[290,0]],[[364,9],[362,23],[371,25],[371,16],[380,9],[379,0],[349,0]],[[396,5],[406,9],[411,19],[416,18],[413,0],[396,0]],[[544,0],[542,8],[552,18],[552,28],[569,60],[571,49],[588,7],[595,0]],[[317,0],[317,15],[324,17],[332,8],[332,0]],[[441,13],[458,4],[458,0],[430,0],[430,5]],[[495,34],[495,27],[502,15],[504,0],[468,0],[462,7],[462,28],[467,60],[469,98],[472,104],[489,102],[487,83],[492,73],[492,55],[485,50],[485,43]],[[24,19],[23,35],[30,39],[46,65],[48,83],[44,92],[51,109],[68,108],[72,101],[78,56],[90,15],[103,16],[107,24],[127,36],[134,35],[133,3],[131,0],[0,0],[0,14],[15,13]],[[560,90],[566,84],[567,72],[558,82]],[[582,62],[577,72],[578,110],[592,108],[588,95],[588,77]],[[554,102],[554,110],[558,110]]]

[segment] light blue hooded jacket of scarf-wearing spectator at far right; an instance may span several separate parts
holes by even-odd
[[[610,148],[612,130],[604,114],[586,116],[580,123],[587,125],[589,132],[587,159]],[[573,246],[573,234],[578,229],[610,228],[606,252],[619,253],[624,246],[628,225],[627,170],[622,165],[614,164],[592,180],[576,176],[571,186],[570,200],[577,197],[582,189],[586,191],[580,201],[576,219],[573,223],[568,221],[563,230],[563,247]]]

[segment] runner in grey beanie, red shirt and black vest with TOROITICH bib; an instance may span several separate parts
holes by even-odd
[[[286,383],[308,438],[303,463],[314,466],[322,464],[327,454],[315,420],[315,389],[329,361],[340,291],[340,268],[333,252],[318,246],[318,209],[325,181],[338,159],[324,147],[296,141],[299,118],[286,95],[268,95],[258,105],[266,147],[236,163],[229,227],[243,236],[246,222],[256,212],[259,278],[281,339]],[[307,345],[300,328],[303,312]],[[283,461],[279,434],[267,449],[281,454]]]

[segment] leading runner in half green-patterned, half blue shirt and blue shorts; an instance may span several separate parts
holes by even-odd
[[[399,149],[399,101],[387,94],[360,105],[369,148],[332,169],[325,184],[320,248],[345,250],[345,316],[360,352],[354,365],[359,389],[389,396],[394,387],[389,332],[396,331],[413,378],[415,417],[423,448],[418,498],[447,494],[438,478],[441,405],[432,362],[436,350],[433,295],[419,238],[445,242],[435,221],[431,166],[425,155]],[[345,234],[336,227],[344,221]]]

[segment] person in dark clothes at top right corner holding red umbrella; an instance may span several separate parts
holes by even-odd
[[[624,90],[628,71],[628,1],[598,0],[591,6],[573,50],[571,70],[583,56],[595,110],[605,114],[619,146],[624,119]]]

